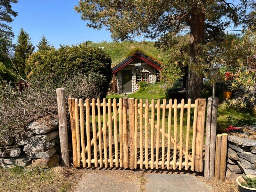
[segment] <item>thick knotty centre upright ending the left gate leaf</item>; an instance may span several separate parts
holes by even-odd
[[[128,98],[123,98],[123,152],[124,152],[124,168],[129,168],[128,154],[128,132],[127,132],[127,107]]]

